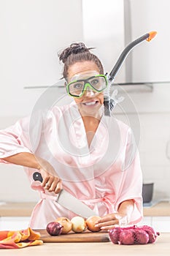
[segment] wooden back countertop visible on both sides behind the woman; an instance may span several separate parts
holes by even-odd
[[[35,202],[0,204],[0,217],[30,217]],[[144,216],[170,216],[170,202],[162,201],[151,207],[144,207]]]

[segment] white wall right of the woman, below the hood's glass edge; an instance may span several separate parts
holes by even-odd
[[[143,181],[154,182],[153,200],[170,200],[170,83],[155,84],[152,92],[140,94],[118,90],[125,100],[115,108],[115,116],[134,129]]]

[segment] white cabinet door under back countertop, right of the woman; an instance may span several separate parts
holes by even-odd
[[[170,217],[152,217],[152,227],[157,232],[170,232]]]

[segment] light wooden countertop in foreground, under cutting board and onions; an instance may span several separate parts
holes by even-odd
[[[41,246],[30,246],[23,249],[0,249],[3,256],[101,256],[101,255],[170,255],[170,233],[161,233],[155,244],[118,245],[104,243],[44,243]]]

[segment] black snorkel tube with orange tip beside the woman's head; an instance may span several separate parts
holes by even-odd
[[[142,37],[137,38],[133,42],[131,42],[129,45],[126,46],[126,48],[123,50],[123,52],[120,54],[119,59],[117,59],[117,62],[115,66],[113,67],[112,71],[107,75],[108,79],[108,87],[112,83],[112,80],[115,79],[115,75],[117,74],[117,71],[120,69],[120,66],[123,64],[123,61],[125,60],[125,57],[128,55],[128,53],[131,51],[134,46],[138,45],[140,42],[144,41],[145,39],[150,42],[152,38],[155,37],[157,34],[156,31],[151,31],[150,33],[144,34]],[[109,89],[108,89],[109,91]],[[111,116],[111,111],[114,108],[114,100],[110,99],[110,95],[104,94],[104,116]]]

